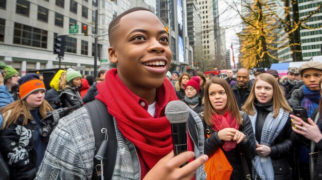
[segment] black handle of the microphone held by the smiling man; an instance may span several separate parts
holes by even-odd
[[[188,151],[187,143],[187,123],[176,123],[171,124],[172,131],[172,144],[173,152],[175,155],[178,155],[182,152]],[[182,166],[187,165],[188,162],[184,163]]]

